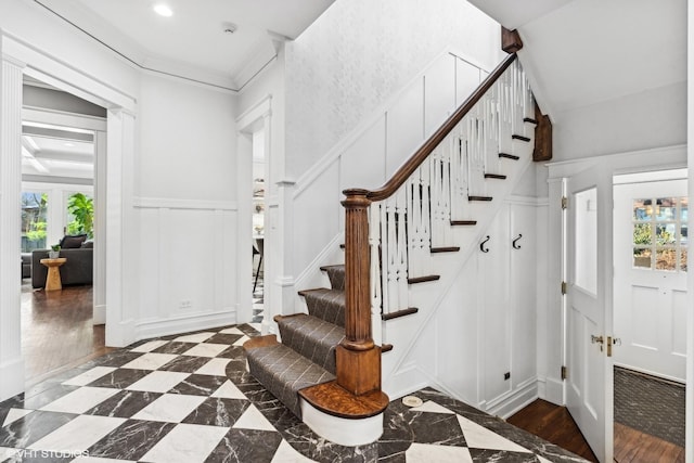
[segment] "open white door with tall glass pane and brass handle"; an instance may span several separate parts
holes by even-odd
[[[607,360],[605,332],[606,211],[590,168],[566,180],[566,406],[586,440],[601,461],[609,455],[605,409]],[[612,260],[612,259],[609,259]]]

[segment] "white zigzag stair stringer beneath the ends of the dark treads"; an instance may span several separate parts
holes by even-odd
[[[451,291],[463,268],[471,256],[479,252],[479,243],[488,234],[487,229],[501,210],[504,200],[512,195],[514,189],[523,180],[524,175],[532,165],[532,151],[535,147],[535,124],[524,124],[525,137],[530,142],[513,140],[509,154],[519,157],[518,160],[501,159],[501,171],[493,173],[505,175],[505,180],[488,179],[485,182],[484,195],[491,196],[491,202],[471,203],[471,218],[476,220],[475,226],[451,226],[452,242],[449,246],[460,246],[458,253],[441,253],[433,256],[433,273],[440,279],[433,282],[410,285],[409,306],[416,307],[417,313],[388,321],[381,321],[374,317],[374,339],[378,337],[383,343],[391,344],[393,350],[383,355],[382,377],[383,390],[393,399],[410,394],[423,386],[438,386],[453,396],[455,387],[440,383],[436,375],[424,372],[417,364],[417,352],[413,349],[416,339],[422,334],[432,330],[430,321],[440,309],[441,304]],[[491,246],[493,242],[490,242]],[[460,301],[461,305],[465,300]],[[475,323],[476,321],[471,321]],[[457,352],[433,351],[432,356],[455,356]],[[468,372],[468,376],[475,377],[478,372]],[[460,398],[460,397],[459,397]],[[477,398],[467,398],[470,403],[478,402]],[[471,400],[473,399],[473,400]]]

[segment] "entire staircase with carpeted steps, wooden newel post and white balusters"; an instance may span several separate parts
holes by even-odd
[[[380,437],[388,404],[381,356],[393,348],[383,344],[384,323],[417,313],[411,286],[441,279],[434,256],[470,249],[493,217],[494,196],[510,194],[529,165],[532,146],[551,146],[535,140],[551,127],[515,59],[382,189],[345,191],[345,265],[321,268],[331,288],[299,292],[308,313],[275,317],[281,343],[269,335],[244,344],[250,373],[329,440]],[[404,340],[404,350],[414,336],[393,338]]]

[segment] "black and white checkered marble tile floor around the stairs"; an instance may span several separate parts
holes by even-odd
[[[0,403],[0,462],[582,461],[434,389],[380,441],[314,435],[245,370],[252,325],[145,340]]]

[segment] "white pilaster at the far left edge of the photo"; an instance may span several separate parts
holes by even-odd
[[[22,69],[0,69],[0,400],[24,390],[21,330]]]

